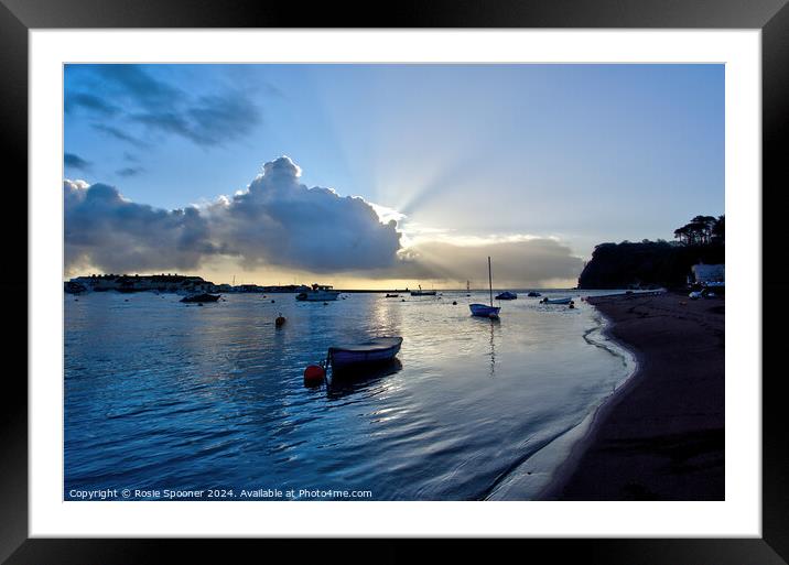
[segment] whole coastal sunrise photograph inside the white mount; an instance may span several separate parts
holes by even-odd
[[[726,500],[725,64],[62,70],[62,500]]]

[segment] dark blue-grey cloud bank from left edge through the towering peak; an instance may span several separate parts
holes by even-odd
[[[397,263],[396,221],[382,224],[363,198],[309,188],[300,174],[280,157],[231,198],[170,211],[129,202],[105,184],[65,181],[66,270],[188,270],[216,254],[315,273]]]

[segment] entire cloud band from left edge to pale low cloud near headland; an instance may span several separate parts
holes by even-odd
[[[199,207],[156,209],[123,198],[115,187],[80,181],[64,182],[64,198],[69,273],[87,267],[196,270],[221,256],[249,269],[460,284],[471,280],[483,286],[490,256],[497,286],[523,287],[575,279],[583,268],[560,241],[526,235],[462,237],[422,229],[413,246],[402,248],[396,218],[403,217],[397,210],[307,187],[287,156],[266,163],[245,191]]]

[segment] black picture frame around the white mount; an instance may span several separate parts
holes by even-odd
[[[0,0],[0,143],[7,171],[28,186],[28,32],[63,28],[700,28],[761,30],[763,80],[763,257],[785,257],[778,248],[780,189],[789,186],[781,149],[789,138],[788,0],[398,0],[325,2],[309,8],[272,0]],[[754,187],[759,189],[759,187]],[[25,206],[19,197],[20,205]],[[19,215],[26,222],[26,214]],[[3,222],[3,240],[19,242],[26,225]],[[6,352],[26,349],[26,248],[7,246],[13,276],[3,276],[7,306],[18,317]],[[785,296],[786,261],[764,270],[765,296]],[[758,283],[763,273],[753,273]],[[26,296],[22,301],[21,296]],[[761,307],[761,305],[757,305]],[[763,359],[777,357],[782,334],[775,309],[763,309]],[[21,322],[21,320],[24,322]],[[769,332],[768,328],[776,330]],[[776,366],[778,367],[778,366]],[[760,539],[575,539],[499,541],[517,552],[550,552],[551,561],[609,564],[786,564],[789,561],[789,428],[783,421],[785,370],[763,374],[763,536]],[[0,561],[9,564],[125,564],[186,561],[261,561],[266,553],[294,551],[285,540],[88,540],[28,536],[28,383],[7,370],[0,395]],[[758,378],[759,376],[738,376]],[[305,528],[305,537],[320,528]],[[299,561],[342,555],[366,561],[403,561],[433,541],[299,541]],[[469,541],[450,545],[469,556]],[[483,551],[489,548],[483,545]],[[526,547],[523,547],[526,546]],[[478,546],[475,546],[477,548]],[[498,547],[507,550],[507,547]],[[442,547],[444,551],[444,547]],[[186,555],[186,554],[191,555]],[[522,554],[522,553],[521,553]],[[250,557],[242,557],[250,555]],[[527,554],[522,554],[526,558]],[[488,557],[489,557],[488,553]]]

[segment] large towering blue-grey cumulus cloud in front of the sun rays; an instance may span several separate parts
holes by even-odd
[[[216,237],[247,263],[312,272],[385,268],[400,248],[397,222],[381,224],[363,198],[307,188],[287,156],[263,166],[249,189],[208,210]]]

